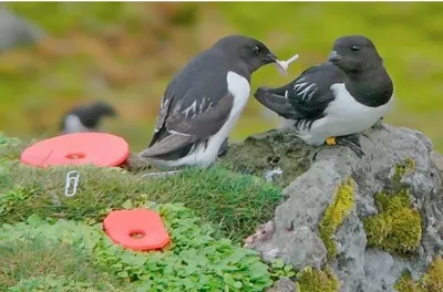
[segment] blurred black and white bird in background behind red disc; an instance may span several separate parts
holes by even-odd
[[[103,117],[116,115],[115,108],[104,102],[80,105],[63,115],[60,127],[64,134],[96,132]]]

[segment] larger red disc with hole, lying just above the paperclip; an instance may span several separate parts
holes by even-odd
[[[130,155],[127,143],[106,133],[73,133],[40,140],[21,154],[32,166],[60,165],[119,166]]]

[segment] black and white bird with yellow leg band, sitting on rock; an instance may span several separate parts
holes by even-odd
[[[362,157],[358,134],[392,106],[392,80],[372,41],[362,35],[337,39],[328,61],[285,86],[257,88],[255,98],[291,119],[307,144],[343,145]]]

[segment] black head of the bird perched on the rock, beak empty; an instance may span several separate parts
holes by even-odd
[[[336,40],[329,62],[344,72],[360,72],[383,62],[375,45],[363,35],[346,35]]]

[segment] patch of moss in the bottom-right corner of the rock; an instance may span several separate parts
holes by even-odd
[[[412,280],[410,272],[404,272],[394,289],[399,292],[440,292],[443,291],[443,259],[436,257],[419,282]]]

